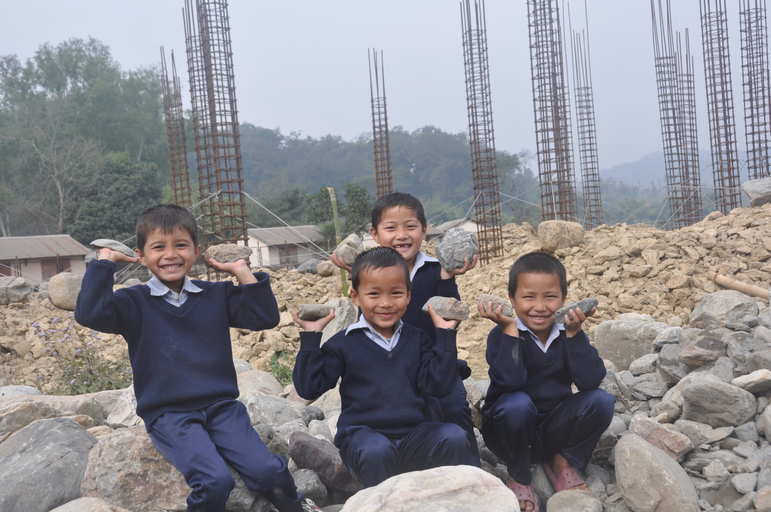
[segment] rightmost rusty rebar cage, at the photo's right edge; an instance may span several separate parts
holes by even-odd
[[[747,171],[750,179],[771,176],[771,79],[766,0],[740,0],[742,76]]]

